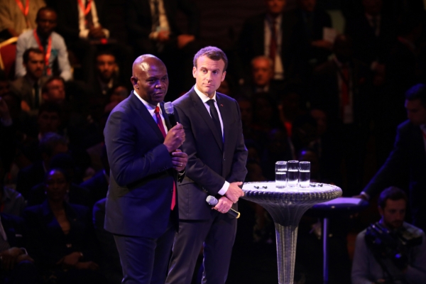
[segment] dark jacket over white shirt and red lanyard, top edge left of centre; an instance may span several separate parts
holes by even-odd
[[[96,4],[99,23],[104,27],[106,14],[106,4],[104,0],[93,0]],[[58,27],[56,30],[65,38],[66,42],[79,38],[80,27],[78,21],[78,1],[61,0],[55,3],[55,10],[58,13]]]

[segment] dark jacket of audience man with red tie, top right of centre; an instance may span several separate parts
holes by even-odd
[[[265,55],[265,18],[266,13],[247,19],[237,43],[240,68],[251,70],[250,62],[258,55]],[[300,72],[300,46],[302,35],[297,33],[297,14],[295,11],[283,13],[281,21],[281,60],[285,77],[293,77]],[[243,72],[240,70],[240,72]]]

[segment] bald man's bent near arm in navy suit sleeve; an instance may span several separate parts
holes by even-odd
[[[143,121],[139,123],[143,123]],[[138,147],[135,141],[135,128],[134,118],[122,111],[111,113],[105,128],[105,136],[108,137],[108,139],[105,139],[105,143],[108,148],[111,173],[121,186],[129,185],[131,182],[136,182],[148,175],[173,168],[175,165],[170,158],[172,152],[170,149],[178,148],[182,143],[176,138],[173,141],[176,144],[175,146],[167,146],[168,138],[166,136],[165,143],[158,144],[158,146],[138,157],[135,156]],[[173,136],[174,132],[173,129],[170,129],[168,136]],[[185,139],[185,136],[183,139]]]

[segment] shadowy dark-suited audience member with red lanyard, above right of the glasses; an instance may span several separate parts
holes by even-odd
[[[322,105],[342,137],[345,165],[344,195],[353,195],[361,187],[368,126],[371,121],[371,70],[355,60],[352,40],[338,35],[334,40],[334,57],[314,71],[311,103]]]

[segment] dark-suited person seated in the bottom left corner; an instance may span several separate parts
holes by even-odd
[[[26,251],[28,238],[23,219],[0,213],[0,283],[41,283],[33,258]]]

